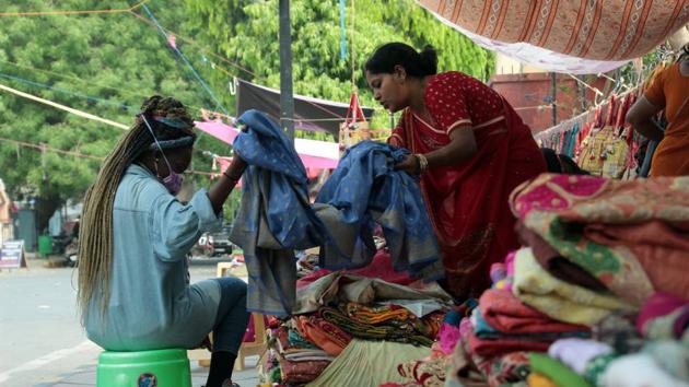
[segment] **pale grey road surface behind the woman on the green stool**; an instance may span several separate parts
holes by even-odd
[[[195,260],[191,281],[215,277],[217,261]],[[0,386],[52,386],[97,362],[77,315],[75,269],[44,263],[0,271]]]

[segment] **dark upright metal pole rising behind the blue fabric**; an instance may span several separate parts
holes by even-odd
[[[280,128],[294,141],[290,0],[280,0]]]

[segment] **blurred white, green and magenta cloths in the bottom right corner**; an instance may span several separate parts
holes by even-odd
[[[656,293],[635,325],[631,315],[612,314],[592,339],[562,339],[547,355],[530,353],[528,386],[687,387],[688,314],[688,301]]]

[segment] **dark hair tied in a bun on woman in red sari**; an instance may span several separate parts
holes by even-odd
[[[365,70],[374,73],[395,72],[395,66],[401,66],[409,77],[423,78],[437,72],[437,52],[432,46],[425,46],[421,52],[404,43],[388,43],[378,48],[369,58]]]

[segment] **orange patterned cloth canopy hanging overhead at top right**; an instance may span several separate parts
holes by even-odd
[[[470,33],[593,60],[651,51],[689,22],[689,0],[417,0]]]

